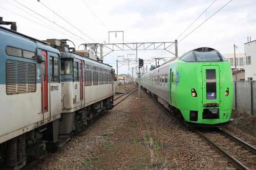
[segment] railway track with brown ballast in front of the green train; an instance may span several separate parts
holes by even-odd
[[[238,169],[249,170],[256,168],[256,163],[253,161],[256,157],[256,149],[252,145],[220,128],[214,128],[214,131],[191,129],[210,144],[211,147],[225,156]]]

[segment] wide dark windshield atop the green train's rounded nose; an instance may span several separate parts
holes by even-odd
[[[197,52],[191,51],[180,58],[186,62],[228,61],[218,51]]]

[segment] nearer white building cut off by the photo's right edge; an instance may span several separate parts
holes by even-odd
[[[256,40],[244,44],[245,80],[256,80]]]

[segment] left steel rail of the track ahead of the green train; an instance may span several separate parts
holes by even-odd
[[[191,129],[199,134],[207,143],[209,143],[212,147],[214,147],[219,153],[221,153],[222,155],[224,155],[229,161],[231,161],[233,163],[234,166],[236,166],[239,169],[245,169],[245,170],[250,170],[250,168],[246,167],[244,164],[242,164],[239,160],[237,160],[236,158],[232,157],[229,153],[227,153],[225,150],[223,150],[222,148],[220,148],[217,144],[215,144],[214,141],[210,140],[209,138],[207,138],[204,134],[202,134],[201,132],[199,132],[198,130],[196,130],[195,128]]]

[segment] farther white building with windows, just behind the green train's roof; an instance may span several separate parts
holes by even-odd
[[[234,54],[222,54],[222,55],[230,61],[231,68],[235,69]],[[237,70],[244,69],[244,65],[245,65],[244,61],[245,61],[245,54],[244,53],[236,53]]]

